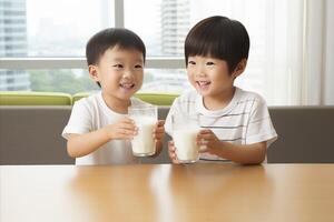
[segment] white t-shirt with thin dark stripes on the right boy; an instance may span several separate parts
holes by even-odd
[[[234,144],[252,144],[267,141],[267,147],[277,138],[264,99],[254,92],[236,88],[227,107],[210,111],[203,104],[203,97],[195,90],[185,92],[170,107],[165,130],[171,134],[171,114],[198,114],[203,129],[210,129],[220,141]],[[203,161],[224,161],[224,159],[200,153]]]

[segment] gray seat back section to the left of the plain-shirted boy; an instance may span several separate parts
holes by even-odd
[[[70,105],[0,107],[0,164],[73,164],[61,131]]]

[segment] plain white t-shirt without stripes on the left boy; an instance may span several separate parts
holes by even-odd
[[[131,105],[147,104],[131,98]],[[96,131],[107,124],[112,124],[127,114],[120,114],[109,109],[102,99],[101,92],[82,98],[72,107],[68,124],[62,131],[62,137],[68,139],[70,133],[82,134]],[[76,159],[77,165],[92,164],[125,164],[138,163],[139,159],[132,155],[129,140],[112,140],[100,147],[95,152]]]

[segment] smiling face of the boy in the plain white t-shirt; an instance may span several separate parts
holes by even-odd
[[[140,51],[116,46],[106,50],[99,63],[89,67],[89,72],[100,82],[106,97],[128,100],[141,88],[144,57]]]

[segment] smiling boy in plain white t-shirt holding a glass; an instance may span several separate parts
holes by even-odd
[[[88,41],[89,75],[101,92],[77,101],[63,129],[67,151],[76,164],[139,162],[130,145],[138,129],[127,112],[130,105],[147,104],[132,98],[143,84],[145,56],[144,42],[127,29],[106,29]],[[157,154],[164,133],[164,121],[157,121],[153,132]]]

